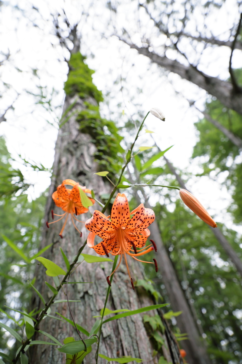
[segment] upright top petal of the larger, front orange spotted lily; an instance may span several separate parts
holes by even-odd
[[[112,205],[111,220],[114,226],[117,228],[120,226],[126,226],[130,220],[130,208],[128,206],[128,200],[124,193],[117,194],[115,201]]]

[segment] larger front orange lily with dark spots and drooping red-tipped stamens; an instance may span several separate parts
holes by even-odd
[[[130,218],[130,214],[134,214],[134,216]],[[106,217],[100,211],[95,210],[93,216],[87,220],[85,224],[87,230],[90,231],[87,237],[87,245],[90,248],[93,248],[99,255],[106,254],[109,256],[109,252],[112,255],[120,255],[119,264],[111,273],[111,275],[116,269],[118,269],[122,261],[122,257],[124,256],[133,289],[134,284],[128,269],[126,254],[130,255],[135,260],[144,262],[136,257],[151,252],[151,250],[154,249],[152,244],[143,248],[150,235],[149,229],[147,229],[147,227],[151,225],[154,219],[154,211],[151,209],[145,209],[143,203],[141,203],[130,213],[126,195],[124,193],[118,193],[114,204],[112,205],[111,220],[109,220],[108,217]],[[103,241],[97,245],[94,245],[94,239],[96,235],[101,237]],[[136,248],[143,249],[138,250]],[[155,259],[154,262],[157,271]],[[109,285],[109,277],[111,277],[111,275],[107,277],[107,282]]]

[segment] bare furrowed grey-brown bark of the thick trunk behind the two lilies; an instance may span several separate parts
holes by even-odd
[[[54,213],[61,213],[60,208],[57,208],[54,205],[52,193],[64,179],[73,179],[74,181],[79,182],[80,185],[86,185],[89,189],[93,189],[97,198],[100,198],[99,196],[102,193],[108,193],[110,191],[110,185],[105,185],[101,177],[94,175],[94,173],[98,171],[98,164],[94,161],[96,146],[89,134],[80,132],[80,123],[76,120],[77,114],[85,109],[88,104],[97,105],[97,102],[91,96],[83,99],[80,98],[78,94],[75,94],[72,97],[66,95],[63,115],[65,115],[65,120],[67,121],[58,132],[53,164],[53,176],[46,204],[45,221],[51,221],[52,209],[54,210]],[[95,206],[95,208],[98,209],[98,206]],[[90,214],[79,215],[79,218],[82,221],[86,221],[87,218],[90,218]],[[74,229],[70,218],[66,223],[63,239],[59,236],[63,221],[50,225],[49,229],[44,225],[43,239],[40,248],[42,249],[46,245],[52,243],[52,247],[48,249],[44,255],[62,268],[65,268],[65,264],[60,253],[60,247],[66,254],[69,262],[72,262],[73,257],[77,254],[78,249],[83,245],[87,234],[89,233],[84,224],[78,224],[79,230],[82,231],[82,238],[80,238],[78,232]],[[94,250],[90,249],[88,246],[85,247],[83,253],[95,254]],[[129,259],[128,263],[134,282],[144,278],[142,264],[135,262],[134,260],[131,262]],[[89,282],[68,285],[68,298],[80,301],[70,302],[73,317],[77,324],[81,325],[89,332],[96,320],[93,316],[98,316],[100,310],[104,307],[108,288],[106,277],[110,275],[111,269],[112,264],[109,262],[103,264],[88,264],[84,261],[74,270],[74,273],[70,277],[71,282]],[[48,301],[48,298],[52,296],[52,293],[48,291],[45,281],[54,285],[53,279],[46,276],[45,268],[41,264],[37,265],[35,286],[38,291],[41,292],[42,296],[44,296],[45,300]],[[66,289],[66,286],[64,289]],[[58,299],[66,299],[63,291],[60,291]],[[134,310],[153,304],[153,299],[146,291],[140,291],[139,289],[134,291],[132,289],[127,269],[124,265],[120,265],[119,270],[114,274],[107,308]],[[42,307],[41,305],[42,302],[40,298],[34,294],[32,298],[33,308],[37,306],[37,309],[39,309]],[[53,304],[51,308],[52,312],[50,314],[53,316],[57,311],[63,316],[71,319],[67,303],[62,302]],[[157,312],[153,310],[149,311],[148,314],[153,316],[154,314],[157,314]],[[60,317],[57,315],[55,316]],[[75,340],[79,340],[75,329],[71,325],[60,320],[55,320],[54,318],[46,317],[45,320],[40,323],[39,329],[50,333],[61,343],[63,342],[63,339],[69,336],[73,336]],[[172,334],[170,336],[172,336]],[[83,338],[87,339],[85,335],[83,335]],[[36,332],[32,339],[46,340],[46,337]],[[165,341],[165,346],[167,347],[167,350],[164,349],[163,353],[165,358],[168,361],[172,361],[174,364],[183,363],[182,358],[179,358],[178,347],[176,346],[176,353],[172,356],[165,335],[163,339]],[[173,349],[174,343],[175,340],[173,340],[172,344]],[[96,363],[96,348],[97,344],[94,344],[93,351],[85,357],[83,363]],[[157,354],[153,356],[153,348],[147,332],[145,331],[141,315],[121,318],[117,321],[114,320],[104,324],[99,353],[113,358],[130,355],[132,357],[141,358],[145,362],[155,364],[158,363],[159,357],[159,354],[158,357]],[[66,363],[65,355],[57,351],[52,345],[34,345],[31,348],[30,357],[30,362],[35,364]],[[173,357],[175,357],[176,361],[175,359],[172,359]],[[106,363],[106,360],[99,357],[99,364],[101,363]]]

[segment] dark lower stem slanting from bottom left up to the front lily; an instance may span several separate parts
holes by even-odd
[[[77,256],[75,257],[74,261],[71,263],[70,268],[67,270],[67,273],[66,273],[65,277],[64,277],[64,278],[62,279],[62,281],[61,281],[61,284],[60,284],[60,285],[56,288],[58,292],[59,292],[59,290],[61,289],[61,287],[62,287],[63,283],[66,281],[66,278],[68,278],[68,277],[69,277],[69,275],[70,275],[70,273],[71,273],[71,270],[72,270],[73,266],[76,264],[76,262],[78,261],[78,258],[79,258],[79,256],[80,256],[80,254],[81,254],[82,250],[85,248],[86,243],[87,243],[87,241],[85,241],[85,243],[84,243],[84,244],[81,246],[81,248],[78,250]],[[49,300],[48,304],[47,304],[47,305],[45,306],[45,308],[42,310],[42,312],[41,312],[41,314],[40,314],[39,318],[37,319],[36,324],[34,325],[34,330],[36,330],[36,329],[38,328],[38,325],[41,323],[41,321],[42,321],[42,320],[43,320],[43,318],[45,317],[45,312],[46,312],[46,311],[48,310],[48,308],[49,308],[49,307],[53,304],[53,301],[54,301],[54,299],[56,298],[57,294],[58,294],[58,293],[53,294],[53,296],[50,298],[50,300]],[[27,338],[26,340],[24,340],[24,341],[22,342],[22,348],[21,348],[20,352],[17,354],[17,356],[15,357],[15,359],[13,359],[13,360],[12,360],[12,362],[13,362],[13,363],[17,363],[17,361],[18,361],[18,360],[19,360],[19,358],[20,358],[20,353],[21,353],[21,352],[24,352],[24,349],[25,349],[25,347],[26,347],[28,344],[29,344],[29,339]]]

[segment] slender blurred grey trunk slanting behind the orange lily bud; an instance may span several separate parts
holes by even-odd
[[[177,182],[179,183],[179,185],[182,188],[184,188],[185,190],[187,190],[185,183],[182,181],[179,174],[176,173],[176,170],[173,167],[173,165],[171,164],[171,162],[169,162],[166,157],[164,157],[164,159],[167,162],[167,165],[168,165],[169,169],[171,170],[171,172],[176,176],[176,179],[177,179]],[[239,257],[235,253],[234,249],[231,247],[231,245],[229,244],[229,242],[227,241],[227,239],[225,238],[225,236],[223,235],[223,233],[221,232],[221,230],[218,227],[213,228],[212,226],[209,226],[209,228],[212,230],[216,239],[218,240],[218,242],[221,244],[221,246],[225,250],[225,253],[230,257],[231,261],[234,263],[236,269],[238,270],[238,272],[240,273],[240,275],[242,277],[242,261],[239,259]]]

